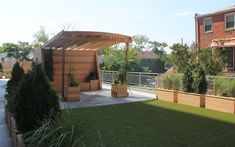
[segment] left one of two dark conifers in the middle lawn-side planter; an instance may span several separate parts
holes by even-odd
[[[189,65],[185,65],[184,71],[183,71],[183,91],[185,92],[194,92],[193,89],[193,73],[190,69]]]

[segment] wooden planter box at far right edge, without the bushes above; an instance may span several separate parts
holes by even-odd
[[[232,97],[223,97],[223,96],[215,96],[215,95],[206,95],[206,108],[235,113],[235,98]]]

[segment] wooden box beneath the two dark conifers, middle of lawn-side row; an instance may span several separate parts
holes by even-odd
[[[205,95],[178,91],[178,103],[195,107],[205,107]]]

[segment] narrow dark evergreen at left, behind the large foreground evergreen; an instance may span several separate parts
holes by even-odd
[[[14,111],[14,101],[19,84],[24,79],[24,69],[20,67],[20,63],[16,62],[12,68],[11,79],[7,82],[5,98],[7,100],[6,108],[9,112]]]

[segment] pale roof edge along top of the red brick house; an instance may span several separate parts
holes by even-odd
[[[217,11],[213,11],[213,12],[209,12],[209,13],[205,13],[205,14],[195,14],[195,18],[203,18],[203,17],[209,17],[212,15],[216,15],[216,14],[223,14],[223,13],[229,13],[231,11],[235,11],[235,5],[232,5],[230,7],[226,7]]]

